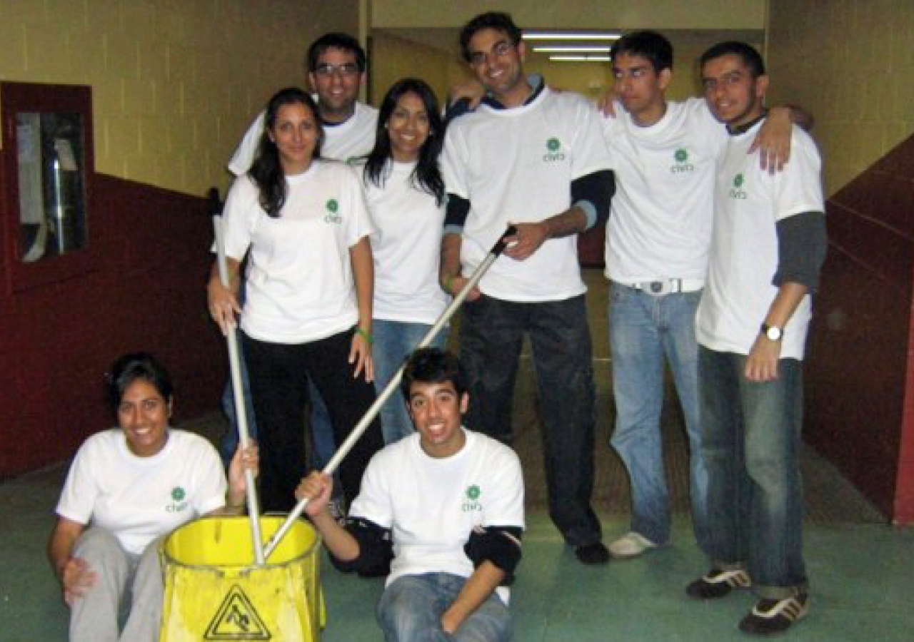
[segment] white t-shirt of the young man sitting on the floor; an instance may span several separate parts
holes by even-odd
[[[504,444],[469,430],[461,451],[431,458],[420,435],[377,453],[349,514],[388,528],[394,560],[388,584],[400,575],[450,573],[469,577],[463,545],[474,526],[524,528],[520,460]],[[505,602],[507,591],[499,589]]]

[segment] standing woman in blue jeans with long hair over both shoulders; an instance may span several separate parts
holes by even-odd
[[[396,82],[381,103],[375,147],[363,169],[376,229],[375,386],[380,393],[429,332],[449,297],[438,283],[444,181],[438,169],[443,123],[435,94],[420,79]],[[433,342],[443,347],[447,332]],[[413,432],[406,405],[393,395],[381,409],[385,443]]]

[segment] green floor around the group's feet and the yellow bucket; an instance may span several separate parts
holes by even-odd
[[[599,272],[587,270],[585,276],[591,286],[588,298],[597,375],[594,497],[609,541],[628,530],[628,483],[608,446],[613,407],[606,289]],[[574,559],[543,508],[544,474],[531,370],[529,361],[522,360],[515,395],[515,447],[524,465],[528,500],[524,561],[512,599],[515,642],[747,639],[736,625],[752,604],[749,594],[705,604],[688,600],[683,592],[685,584],[706,568],[689,531],[687,454],[672,390],[663,424],[675,510],[673,543],[640,559],[591,568]],[[186,427],[218,438],[223,424],[209,417]],[[887,526],[814,452],[804,452],[802,468],[812,608],[789,639],[914,640],[914,530]],[[0,642],[67,638],[67,609],[44,553],[64,474],[65,468],[58,466],[0,483]],[[328,610],[324,642],[379,641],[374,606],[383,582],[342,575],[324,563],[322,583]]]

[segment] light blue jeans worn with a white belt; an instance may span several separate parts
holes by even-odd
[[[651,542],[670,538],[660,414],[664,405],[664,356],[679,395],[689,442],[689,491],[698,544],[707,543],[707,469],[701,451],[698,343],[695,314],[701,292],[652,296],[612,283],[610,344],[616,427],[612,447],[628,469],[632,531]]]

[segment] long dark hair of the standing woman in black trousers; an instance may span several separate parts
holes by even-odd
[[[257,149],[257,158],[250,166],[250,177],[254,179],[260,189],[260,206],[273,218],[280,216],[282,205],[285,205],[286,180],[282,173],[279,149],[270,139],[270,132],[276,124],[276,115],[284,105],[304,105],[311,111],[314,123],[318,128],[317,143],[314,145],[312,158],[321,157],[321,141],[324,140],[324,128],[321,118],[317,115],[317,105],[314,99],[297,87],[280,89],[270,102],[267,103],[267,113],[263,118],[263,135],[260,137],[260,146]]]

